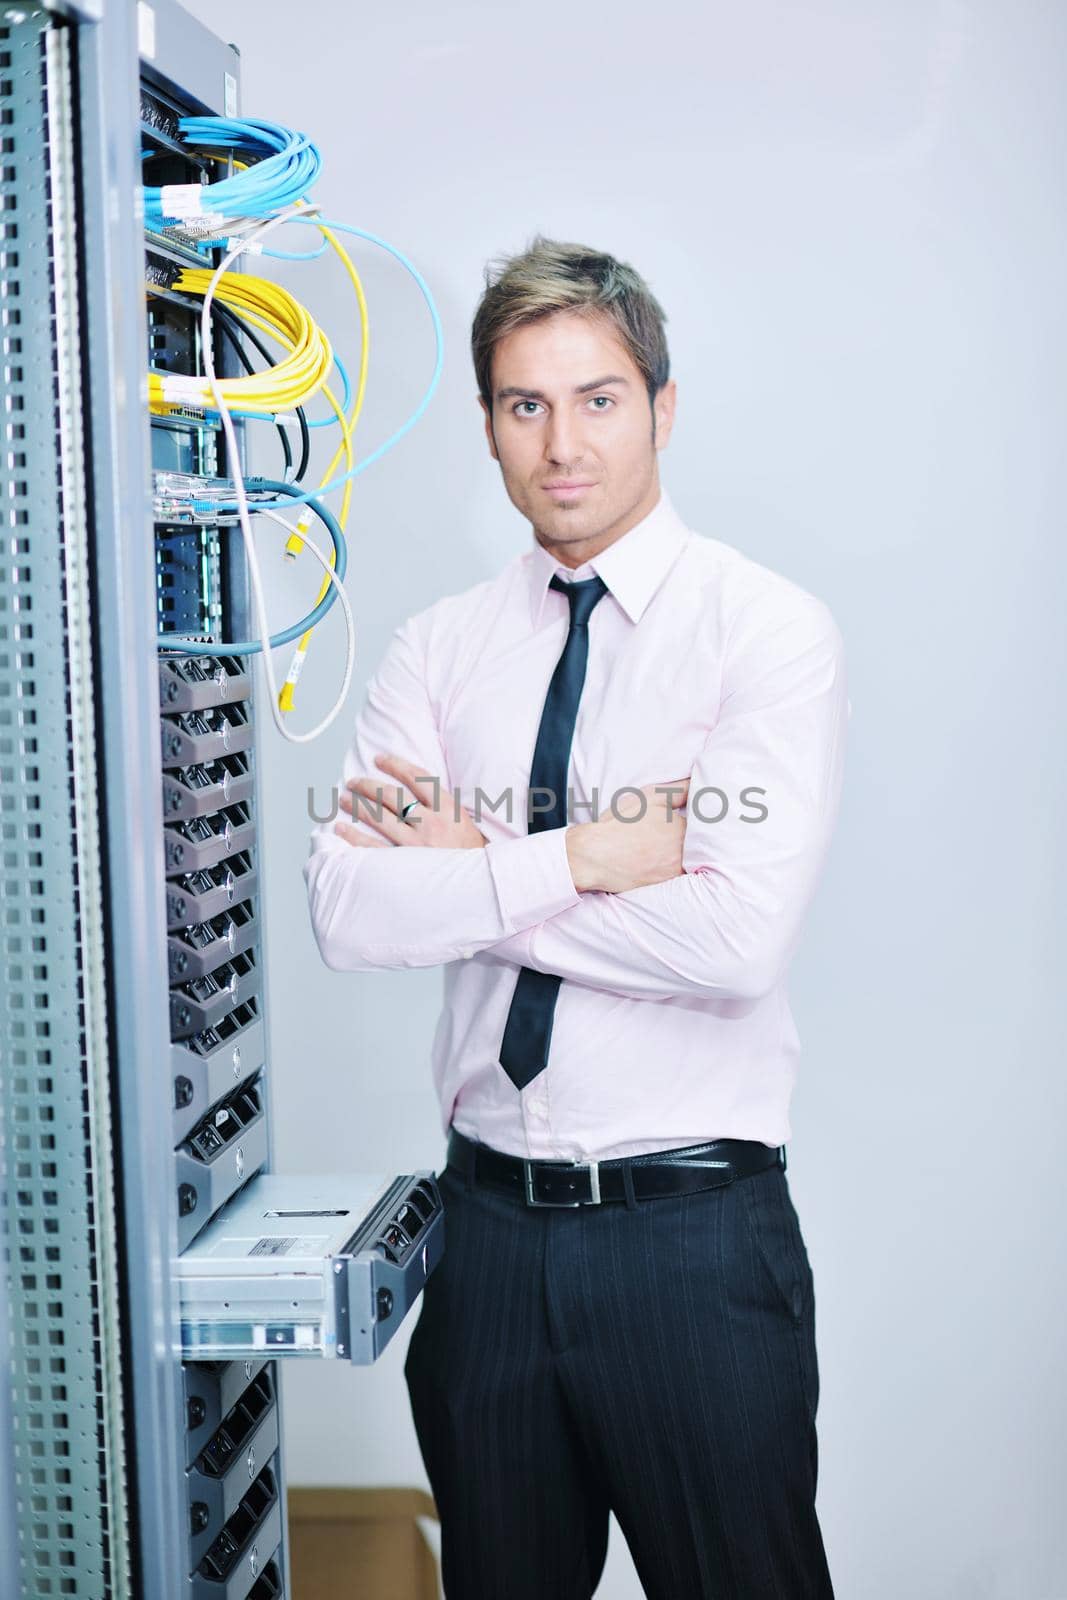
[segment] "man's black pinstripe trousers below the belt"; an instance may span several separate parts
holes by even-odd
[[[405,1378],[446,1600],[589,1600],[609,1510],[649,1600],[833,1600],[782,1166],[573,1210],[440,1187]]]

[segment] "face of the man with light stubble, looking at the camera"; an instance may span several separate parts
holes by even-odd
[[[552,312],[499,339],[493,411],[480,405],[509,499],[565,565],[597,555],[659,499],[675,382],[656,397],[653,443],[645,378],[606,317]]]

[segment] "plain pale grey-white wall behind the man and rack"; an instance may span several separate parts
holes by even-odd
[[[194,10],[238,42],[245,110],[317,136],[318,197],[413,256],[448,339],[430,413],[357,480],[350,710],[312,747],[266,742],[278,1165],[443,1158],[440,973],[318,963],[306,790],[334,782],[395,624],[525,547],[467,328],[488,258],[536,229],[585,240],[669,312],[677,507],[825,598],[849,650],[841,821],[790,986],[838,1594],[1062,1600],[1067,11]],[[357,262],[366,454],[434,350],[402,269],[370,245]],[[339,270],[280,275],[354,355]],[[274,616],[315,584],[309,563]],[[342,664],[339,618],[325,632],[302,726]],[[293,1482],[426,1482],[406,1338],[371,1371],[286,1374]],[[617,1530],[601,1594],[640,1594]]]

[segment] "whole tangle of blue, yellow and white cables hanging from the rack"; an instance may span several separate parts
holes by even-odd
[[[197,411],[216,411],[219,416],[232,486],[224,486],[222,483],[208,486],[203,482],[184,486],[171,483],[170,493],[171,496],[178,496],[174,509],[176,515],[182,518],[221,522],[229,520],[234,512],[237,514],[245,544],[253,613],[259,637],[258,640],[242,642],[200,642],[179,640],[162,634],[158,645],[162,650],[179,650],[184,654],[218,654],[219,651],[259,654],[270,693],[274,725],[286,741],[304,744],[323,733],[336,718],[352,682],[355,622],[344,589],[344,528],[354,480],[360,472],[379,461],[418,422],[429,405],[442,373],[442,323],[426,280],[400,250],[376,234],[355,227],[350,222],[323,218],[320,208],[309,202],[306,190],[318,176],[322,160],[315,144],[302,133],[280,128],[275,123],[237,122],[224,117],[186,117],[179,123],[179,131],[182,141],[190,149],[195,147],[208,160],[226,162],[230,171],[214,184],[176,184],[157,189],[146,186],[146,227],[157,232],[166,230],[184,235],[184,240],[195,245],[202,253],[221,246],[224,256],[214,270],[186,267],[171,285],[179,294],[192,294],[202,299],[200,360],[203,362],[203,376],[197,378],[150,370],[149,403],[157,414],[195,408]],[[146,158],[150,158],[150,152],[146,152]],[[165,221],[166,218],[171,221]],[[322,235],[320,248],[310,254],[266,248],[262,243],[264,237],[286,222],[302,222],[317,229]],[[437,344],[434,373],[421,403],[389,438],[358,464],[354,456],[352,440],[355,424],[363,410],[370,326],[360,277],[338,234],[352,234],[389,251],[411,274],[430,312]],[[333,355],[330,341],[291,294],[266,278],[229,270],[245,253],[274,256],[285,261],[309,261],[322,254],[326,246],[333,248],[347,272],[360,312],[360,365],[358,373],[354,374],[355,381],[352,386],[341,362]],[[149,285],[149,291],[150,288]],[[259,350],[259,355],[267,360],[269,365],[266,370],[253,371],[251,362],[238,349],[238,360],[242,360],[248,376],[219,378],[214,370],[213,318],[214,328],[229,338],[230,342],[237,344],[242,334],[246,336],[254,349]],[[270,365],[269,354],[256,339],[253,328],[270,334],[283,346],[286,355],[282,362]],[[326,382],[331,365],[336,365],[344,386],[341,402],[331,394]],[[315,394],[322,394],[333,413],[322,421],[309,421],[304,416],[304,405]],[[296,411],[296,418],[288,416],[288,411]],[[234,432],[234,416],[267,418],[278,424],[286,458],[285,482],[258,477],[250,480],[246,490],[237,435]],[[285,440],[285,427],[291,421],[299,424],[302,437],[301,466],[296,469],[298,480],[302,478],[307,467],[309,429],[323,427],[331,422],[339,426],[341,442],[325,469],[323,480],[314,490],[298,488],[291,482],[291,451]],[[342,461],[344,470],[334,477]],[[334,490],[344,491],[336,518],[322,502],[322,496]],[[267,499],[262,498],[264,494]],[[294,523],[290,522],[283,512],[298,512],[298,520]],[[269,632],[259,557],[251,530],[253,517],[264,517],[285,528],[288,534],[285,544],[286,558],[291,560],[301,550],[307,549],[323,571],[322,587],[312,611],[278,634]],[[310,539],[309,534],[315,517],[326,525],[333,550],[323,550]],[[315,728],[307,733],[293,733],[285,726],[283,717],[293,709],[294,690],[307,656],[312,630],[334,602],[341,605],[344,613],[347,635],[341,693],[328,715]],[[270,653],[280,645],[294,640],[296,650],[290,669],[285,682],[278,686]]]

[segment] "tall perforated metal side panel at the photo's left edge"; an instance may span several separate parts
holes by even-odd
[[[0,22],[0,1227],[19,1582],[125,1595],[74,35]]]

